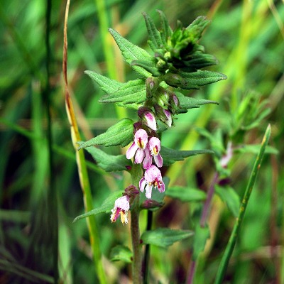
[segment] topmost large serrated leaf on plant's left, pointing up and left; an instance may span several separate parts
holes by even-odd
[[[126,40],[123,36],[121,36],[117,31],[114,31],[112,28],[109,28],[109,33],[113,36],[116,44],[119,45],[119,49],[121,50],[121,54],[124,56],[125,61],[131,65],[133,60],[146,60],[151,58],[151,55],[147,53],[146,50],[139,48],[137,45],[134,45],[129,40]],[[144,70],[139,66],[132,66],[133,70],[143,75],[144,77],[151,77],[151,73]]]

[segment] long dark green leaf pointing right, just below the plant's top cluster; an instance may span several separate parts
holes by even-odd
[[[206,84],[225,80],[226,75],[219,72],[207,70],[197,70],[196,72],[168,72],[163,76],[163,80],[172,87],[180,87],[182,89],[200,89]]]

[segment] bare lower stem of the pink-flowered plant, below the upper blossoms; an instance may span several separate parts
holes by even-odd
[[[141,165],[133,164],[131,171],[132,183],[139,188],[139,180],[143,175]],[[133,284],[142,283],[142,258],[141,258],[141,244],[139,231],[139,195],[136,196],[131,207],[131,241],[133,250],[132,260],[132,278]]]

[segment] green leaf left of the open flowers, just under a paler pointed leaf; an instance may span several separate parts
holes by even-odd
[[[85,150],[92,155],[99,167],[106,172],[126,170],[127,165],[132,165],[131,160],[126,159],[125,155],[109,155],[96,147],[87,147]]]

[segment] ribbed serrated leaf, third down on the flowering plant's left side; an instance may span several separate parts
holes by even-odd
[[[141,79],[121,84],[115,92],[107,94],[99,102],[116,102],[121,104],[141,104],[146,100],[146,85]]]

